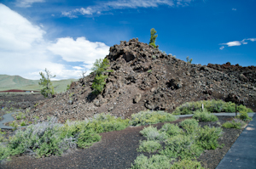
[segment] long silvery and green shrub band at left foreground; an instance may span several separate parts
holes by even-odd
[[[10,155],[28,153],[37,157],[61,155],[67,149],[87,148],[101,140],[99,133],[123,130],[129,120],[122,120],[111,115],[95,115],[86,121],[67,121],[64,125],[56,118],[18,130],[9,138],[6,147],[0,148],[0,159]]]

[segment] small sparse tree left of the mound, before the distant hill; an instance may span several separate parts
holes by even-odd
[[[46,68],[45,68],[45,73],[46,73],[46,76],[44,75],[43,72],[39,73],[42,78],[40,79],[40,82],[38,82],[38,84],[44,87],[43,89],[41,89],[41,93],[44,95],[44,97],[51,98],[52,95],[55,93],[55,90],[54,90],[54,87],[52,86],[52,82],[50,82],[50,78],[55,76],[52,76],[49,70],[47,70]]]

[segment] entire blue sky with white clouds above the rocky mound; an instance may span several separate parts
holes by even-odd
[[[0,0],[0,74],[79,78],[138,37],[192,63],[256,65],[256,0]],[[89,71],[88,71],[89,72]]]

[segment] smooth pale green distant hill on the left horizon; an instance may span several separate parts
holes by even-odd
[[[66,79],[61,81],[52,81],[55,92],[60,93],[67,90],[67,85],[78,79]],[[19,89],[19,90],[41,90],[38,85],[39,80],[29,80],[21,76],[0,75],[0,91]]]

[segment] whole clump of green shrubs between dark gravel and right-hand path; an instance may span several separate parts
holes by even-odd
[[[211,116],[198,115],[198,118],[215,121]],[[141,133],[147,140],[141,141],[137,150],[154,152],[156,155],[149,158],[139,155],[131,168],[203,168],[195,158],[205,149],[221,148],[224,145],[218,144],[218,138],[222,135],[221,127],[201,127],[198,121],[186,119],[179,125],[166,123],[160,130],[152,126],[143,128]]]

